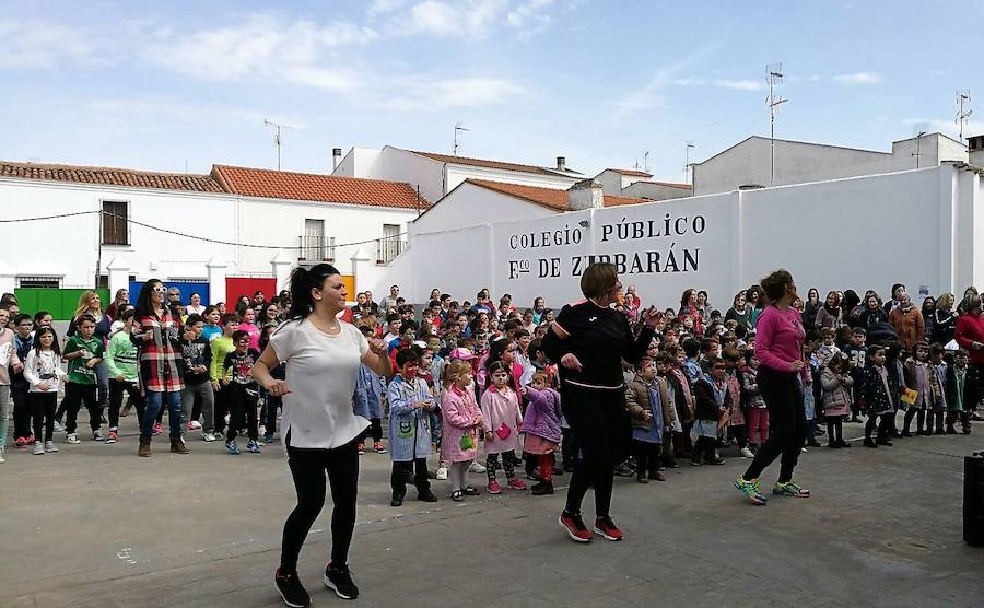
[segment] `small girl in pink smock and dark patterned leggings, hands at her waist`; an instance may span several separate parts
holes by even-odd
[[[493,361],[488,373],[492,386],[482,394],[482,419],[485,431],[485,473],[489,476],[489,493],[497,494],[501,489],[495,479],[499,467],[499,455],[502,454],[502,468],[505,470],[509,488],[525,490],[526,483],[516,477],[514,465],[516,449],[519,448],[519,425],[523,414],[519,412],[519,397],[509,388],[512,381],[511,365],[503,360]]]

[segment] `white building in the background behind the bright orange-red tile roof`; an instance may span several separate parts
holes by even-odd
[[[563,156],[552,167],[502,161],[468,159],[432,152],[417,152],[386,145],[382,150],[352,148],[341,160],[335,149],[332,175],[405,182],[419,188],[423,198],[437,201],[466,179],[509,182],[541,188],[571,187],[584,175],[571,171]]]

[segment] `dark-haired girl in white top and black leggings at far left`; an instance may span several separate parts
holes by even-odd
[[[93,326],[94,327],[94,326]],[[68,377],[61,370],[58,336],[47,326],[34,332],[34,347],[24,362],[24,378],[30,383],[27,402],[34,425],[34,454],[58,452],[55,446],[55,408],[58,406],[58,385]]]

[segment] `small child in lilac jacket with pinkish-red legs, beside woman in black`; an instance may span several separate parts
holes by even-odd
[[[525,388],[526,416],[522,431],[526,433],[523,451],[536,457],[540,465],[540,481],[534,483],[530,493],[535,496],[553,493],[553,454],[563,439],[560,393],[550,388],[547,374],[536,372],[530,385]]]

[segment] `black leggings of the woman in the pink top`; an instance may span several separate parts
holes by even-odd
[[[755,453],[743,477],[757,479],[782,455],[778,481],[784,483],[793,479],[793,469],[799,461],[799,451],[806,440],[803,391],[796,372],[781,372],[764,365],[759,367],[758,383],[769,410],[769,440]]]

